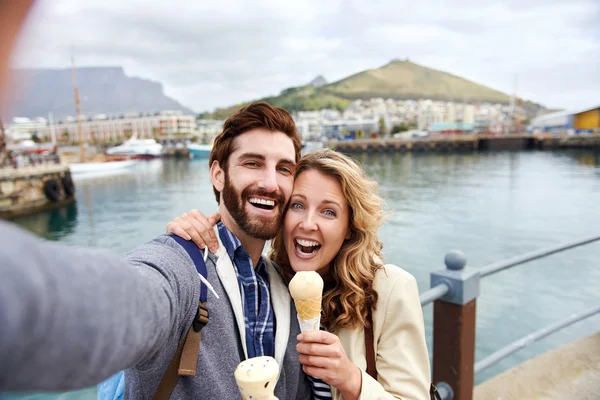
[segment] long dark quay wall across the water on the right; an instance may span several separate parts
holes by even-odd
[[[600,148],[600,135],[449,135],[412,139],[358,139],[325,142],[342,153],[473,152]]]

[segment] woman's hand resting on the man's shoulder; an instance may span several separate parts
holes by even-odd
[[[192,240],[201,249],[208,246],[211,253],[216,253],[219,241],[213,227],[220,219],[219,213],[214,213],[206,218],[200,211],[192,210],[169,222],[167,232],[185,240]]]

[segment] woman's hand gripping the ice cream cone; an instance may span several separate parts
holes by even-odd
[[[296,350],[304,372],[340,391],[344,400],[358,399],[362,389],[360,369],[350,361],[340,338],[325,331],[298,335]]]

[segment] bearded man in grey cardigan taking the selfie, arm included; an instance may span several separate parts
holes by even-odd
[[[0,88],[30,5],[0,0]],[[215,141],[210,173],[223,223],[206,260],[210,319],[197,375],[180,378],[172,398],[239,398],[235,366],[263,354],[281,365],[276,396],[311,397],[289,339],[299,333],[295,311],[261,258],[280,228],[299,153],[289,113],[266,103],[240,110]],[[179,244],[161,236],[122,260],[1,222],[0,260],[0,391],[76,389],[127,369],[126,397],[154,396],[198,304],[200,277]]]

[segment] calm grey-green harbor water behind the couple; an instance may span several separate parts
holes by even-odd
[[[600,233],[600,152],[356,155],[393,211],[380,230],[386,261],[412,273],[421,291],[447,251],[468,267]],[[77,204],[16,220],[48,239],[125,254],[192,208],[216,210],[201,160],[154,160],[126,173],[76,179]],[[486,278],[477,302],[476,359],[600,301],[600,243]],[[432,306],[424,308],[431,349]],[[401,318],[401,315],[398,316]],[[481,382],[546,350],[597,332],[579,322],[476,376]],[[1,396],[0,396],[1,397]],[[6,396],[13,398],[12,396]],[[94,389],[28,394],[94,399]]]

